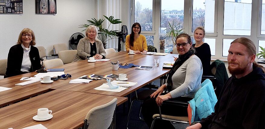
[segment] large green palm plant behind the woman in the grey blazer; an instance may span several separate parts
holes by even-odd
[[[119,23],[122,22],[122,21],[120,21],[120,19],[114,19],[113,16],[110,16],[110,17],[107,17],[105,15],[103,15],[103,16],[110,22],[110,25],[111,24],[119,24]],[[95,19],[95,18],[92,18],[92,20],[87,20],[87,22],[89,24],[81,24],[81,25],[79,25],[80,26],[79,28],[87,28],[90,25],[97,26],[98,27],[99,39],[102,41],[103,46],[104,46],[104,49],[106,49],[106,47],[107,47],[107,41],[108,40],[111,40],[113,38],[117,38],[116,33],[119,30],[108,30],[109,27],[110,27],[110,25],[108,26],[107,29],[105,29],[102,26],[102,23],[104,22],[104,20],[105,19]],[[85,29],[83,29],[82,31],[85,31]],[[109,39],[108,39],[108,37],[109,37]]]

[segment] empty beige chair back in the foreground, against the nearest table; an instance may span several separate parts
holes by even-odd
[[[88,111],[84,120],[83,129],[107,129],[113,120],[113,114],[117,106],[117,98],[101,106]]]

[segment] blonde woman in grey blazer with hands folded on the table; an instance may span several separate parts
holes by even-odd
[[[104,46],[97,36],[96,26],[88,26],[85,38],[80,39],[77,45],[77,54],[73,62],[85,60],[88,57],[94,57],[95,59],[105,58],[106,52]]]

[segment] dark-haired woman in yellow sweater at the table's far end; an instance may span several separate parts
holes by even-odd
[[[132,33],[126,36],[126,51],[133,50],[136,54],[147,52],[147,43],[145,36],[140,35],[141,25],[138,22],[132,24]],[[131,38],[130,38],[131,37]]]

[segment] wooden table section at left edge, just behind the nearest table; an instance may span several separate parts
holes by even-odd
[[[0,83],[0,86],[12,88],[0,92],[0,107],[49,91],[48,88],[15,86],[5,83]]]

